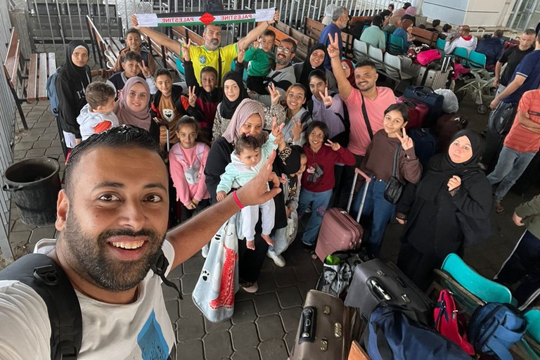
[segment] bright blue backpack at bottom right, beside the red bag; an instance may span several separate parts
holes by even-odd
[[[512,360],[508,349],[521,340],[527,330],[527,321],[510,304],[488,302],[477,307],[470,317],[468,338],[480,352]]]

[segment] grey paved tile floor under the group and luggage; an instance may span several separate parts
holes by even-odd
[[[48,105],[48,102],[25,105],[30,131],[17,131],[15,162],[45,155],[58,159],[63,169],[64,158],[60,155],[56,121]],[[462,111],[472,119],[471,128],[482,130],[487,115],[477,115],[473,104],[463,105]],[[531,198],[536,192],[536,189],[529,189],[525,198]],[[522,229],[512,223],[511,209],[523,200],[521,196],[510,193],[505,200],[508,211],[495,217],[497,233],[487,243],[467,250],[465,260],[480,274],[493,276],[518,240]],[[15,205],[12,205],[12,210],[10,241],[16,256],[31,251],[37,240],[56,235],[53,226],[35,228],[23,224]],[[396,259],[400,232],[399,224],[392,222],[388,226],[382,251],[384,260]],[[240,290],[236,295],[233,318],[223,323],[205,320],[191,300],[203,257],[195,255],[175,269],[169,278],[181,283],[184,300],[179,300],[170,288],[165,287],[164,293],[178,340],[177,358],[286,359],[294,342],[304,297],[309,289],[314,288],[321,271],[321,263],[312,260],[299,243],[296,241],[285,252],[287,265],[283,268],[266,259],[257,294]]]

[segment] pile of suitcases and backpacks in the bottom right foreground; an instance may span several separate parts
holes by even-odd
[[[307,293],[291,360],[510,360],[510,347],[522,354],[517,349],[525,344],[529,355],[538,350],[529,334],[537,325],[512,304],[481,302],[470,314],[449,288],[432,300],[392,263],[358,251],[333,258],[333,266],[354,266],[346,296],[340,294],[345,301],[320,290]]]

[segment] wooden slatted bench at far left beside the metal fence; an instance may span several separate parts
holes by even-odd
[[[32,53],[30,59],[20,53],[20,39],[15,27],[11,28],[4,72],[9,88],[17,104],[20,120],[25,130],[28,129],[22,103],[48,100],[47,79],[56,71],[54,53]]]

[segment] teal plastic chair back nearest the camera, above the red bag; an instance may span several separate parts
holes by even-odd
[[[448,255],[444,259],[441,269],[484,302],[501,302],[503,304],[512,302],[512,293],[506,286],[484,278],[465,264],[456,254]]]

